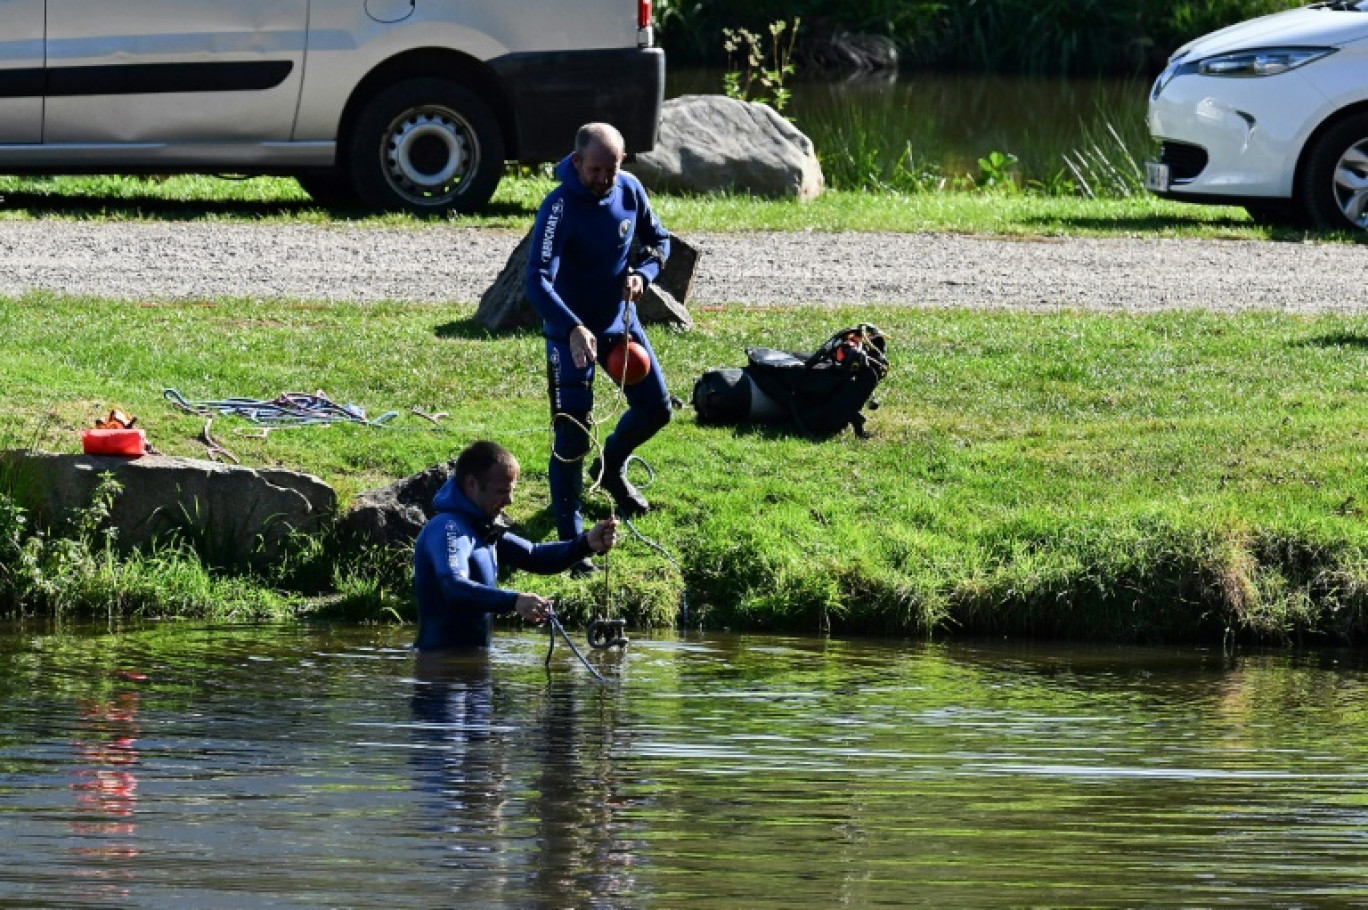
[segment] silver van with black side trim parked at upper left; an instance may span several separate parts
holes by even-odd
[[[0,172],[283,174],[469,212],[505,161],[659,126],[651,0],[0,0]]]

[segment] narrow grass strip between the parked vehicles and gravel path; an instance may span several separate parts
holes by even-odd
[[[505,179],[491,209],[458,219],[472,227],[527,230],[546,178]],[[286,178],[227,181],[212,177],[0,178],[0,218],[89,220],[248,220],[409,226],[402,215],[330,211]],[[1146,235],[1200,238],[1300,238],[1297,231],[1254,224],[1239,208],[1185,205],[1149,196],[1088,200],[1011,192],[867,193],[828,192],[799,204],[748,196],[657,196],[670,230],[698,231],[953,231],[1003,235]],[[1334,238],[1330,238],[1334,239]]]

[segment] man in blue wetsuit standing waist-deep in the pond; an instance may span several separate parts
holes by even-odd
[[[495,613],[517,613],[531,623],[547,617],[551,602],[544,597],[498,586],[501,564],[553,575],[617,543],[616,519],[558,543],[509,534],[503,509],[513,502],[520,472],[512,452],[475,442],[457,456],[451,479],[432,497],[436,515],[413,549],[419,650],[488,647]]]

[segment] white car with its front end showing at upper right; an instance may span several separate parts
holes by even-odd
[[[1368,230],[1368,0],[1289,10],[1179,48],[1149,94],[1145,186],[1263,220]]]

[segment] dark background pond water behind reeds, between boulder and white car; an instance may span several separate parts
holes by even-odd
[[[1029,179],[1048,181],[1063,156],[1144,161],[1149,83],[1133,79],[899,74],[791,79],[784,114],[817,146],[829,179],[856,172],[937,168],[975,174],[990,152],[1016,156]],[[669,96],[722,93],[721,70],[670,71]],[[1115,133],[1115,135],[1114,135]],[[904,187],[906,189],[906,187]]]

